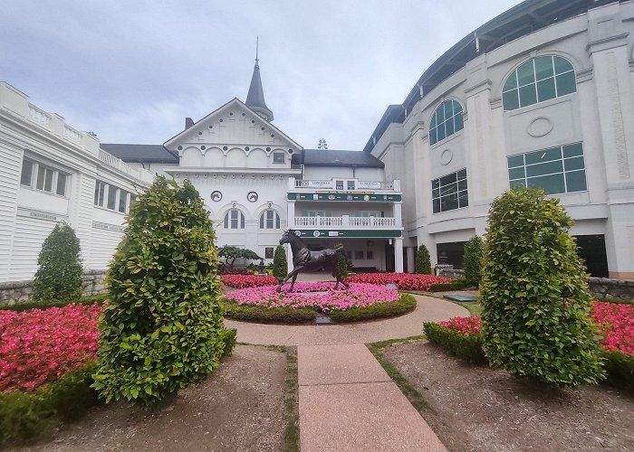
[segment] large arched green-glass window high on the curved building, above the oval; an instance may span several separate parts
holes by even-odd
[[[504,110],[514,110],[576,90],[570,61],[554,55],[540,56],[518,66],[504,81],[502,104]]]

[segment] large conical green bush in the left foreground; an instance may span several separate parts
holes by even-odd
[[[218,365],[224,343],[215,234],[188,181],[158,177],[131,205],[110,263],[93,387],[152,406]]]

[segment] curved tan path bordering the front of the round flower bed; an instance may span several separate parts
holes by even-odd
[[[416,295],[417,307],[408,315],[387,320],[342,325],[264,325],[226,319],[237,329],[237,340],[246,344],[327,345],[369,344],[423,334],[423,322],[469,315],[462,306],[445,300]]]

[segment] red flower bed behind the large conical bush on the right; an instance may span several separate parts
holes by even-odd
[[[604,349],[634,355],[634,305],[595,301],[590,316],[604,336]],[[438,325],[469,335],[480,331],[480,317],[454,317]]]

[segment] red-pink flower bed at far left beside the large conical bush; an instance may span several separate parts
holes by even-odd
[[[101,306],[0,310],[0,391],[33,391],[97,357]]]

